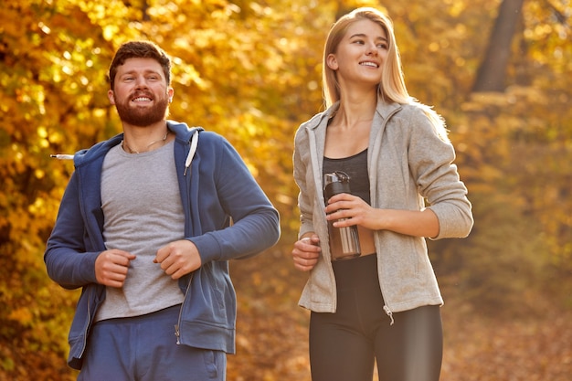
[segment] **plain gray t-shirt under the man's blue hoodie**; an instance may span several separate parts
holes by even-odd
[[[183,302],[177,280],[153,261],[158,249],[185,236],[173,145],[130,154],[119,144],[105,156],[101,172],[105,245],[137,258],[131,261],[122,289],[107,288],[96,321],[139,316]]]

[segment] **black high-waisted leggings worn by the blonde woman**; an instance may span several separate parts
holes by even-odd
[[[438,381],[443,353],[439,306],[383,310],[376,255],[334,262],[337,311],[312,312],[312,381]]]

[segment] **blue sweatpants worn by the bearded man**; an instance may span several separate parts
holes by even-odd
[[[224,381],[224,352],[176,344],[179,308],[95,323],[78,381]]]

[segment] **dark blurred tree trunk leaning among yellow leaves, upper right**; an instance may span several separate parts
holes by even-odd
[[[514,31],[518,25],[524,0],[503,0],[493,26],[481,67],[472,91],[502,92],[506,86],[506,67],[511,55]]]

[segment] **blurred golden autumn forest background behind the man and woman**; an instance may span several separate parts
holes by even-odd
[[[74,153],[121,132],[116,48],[174,60],[171,119],[225,135],[281,212],[282,237],[232,262],[238,355],[228,380],[310,380],[307,274],[291,154],[323,110],[329,27],[357,6],[395,22],[411,95],[448,122],[475,226],[429,242],[445,299],[442,380],[572,375],[572,5],[569,0],[3,0],[0,7],[0,380],[72,380],[79,291],[48,279],[45,242]]]

